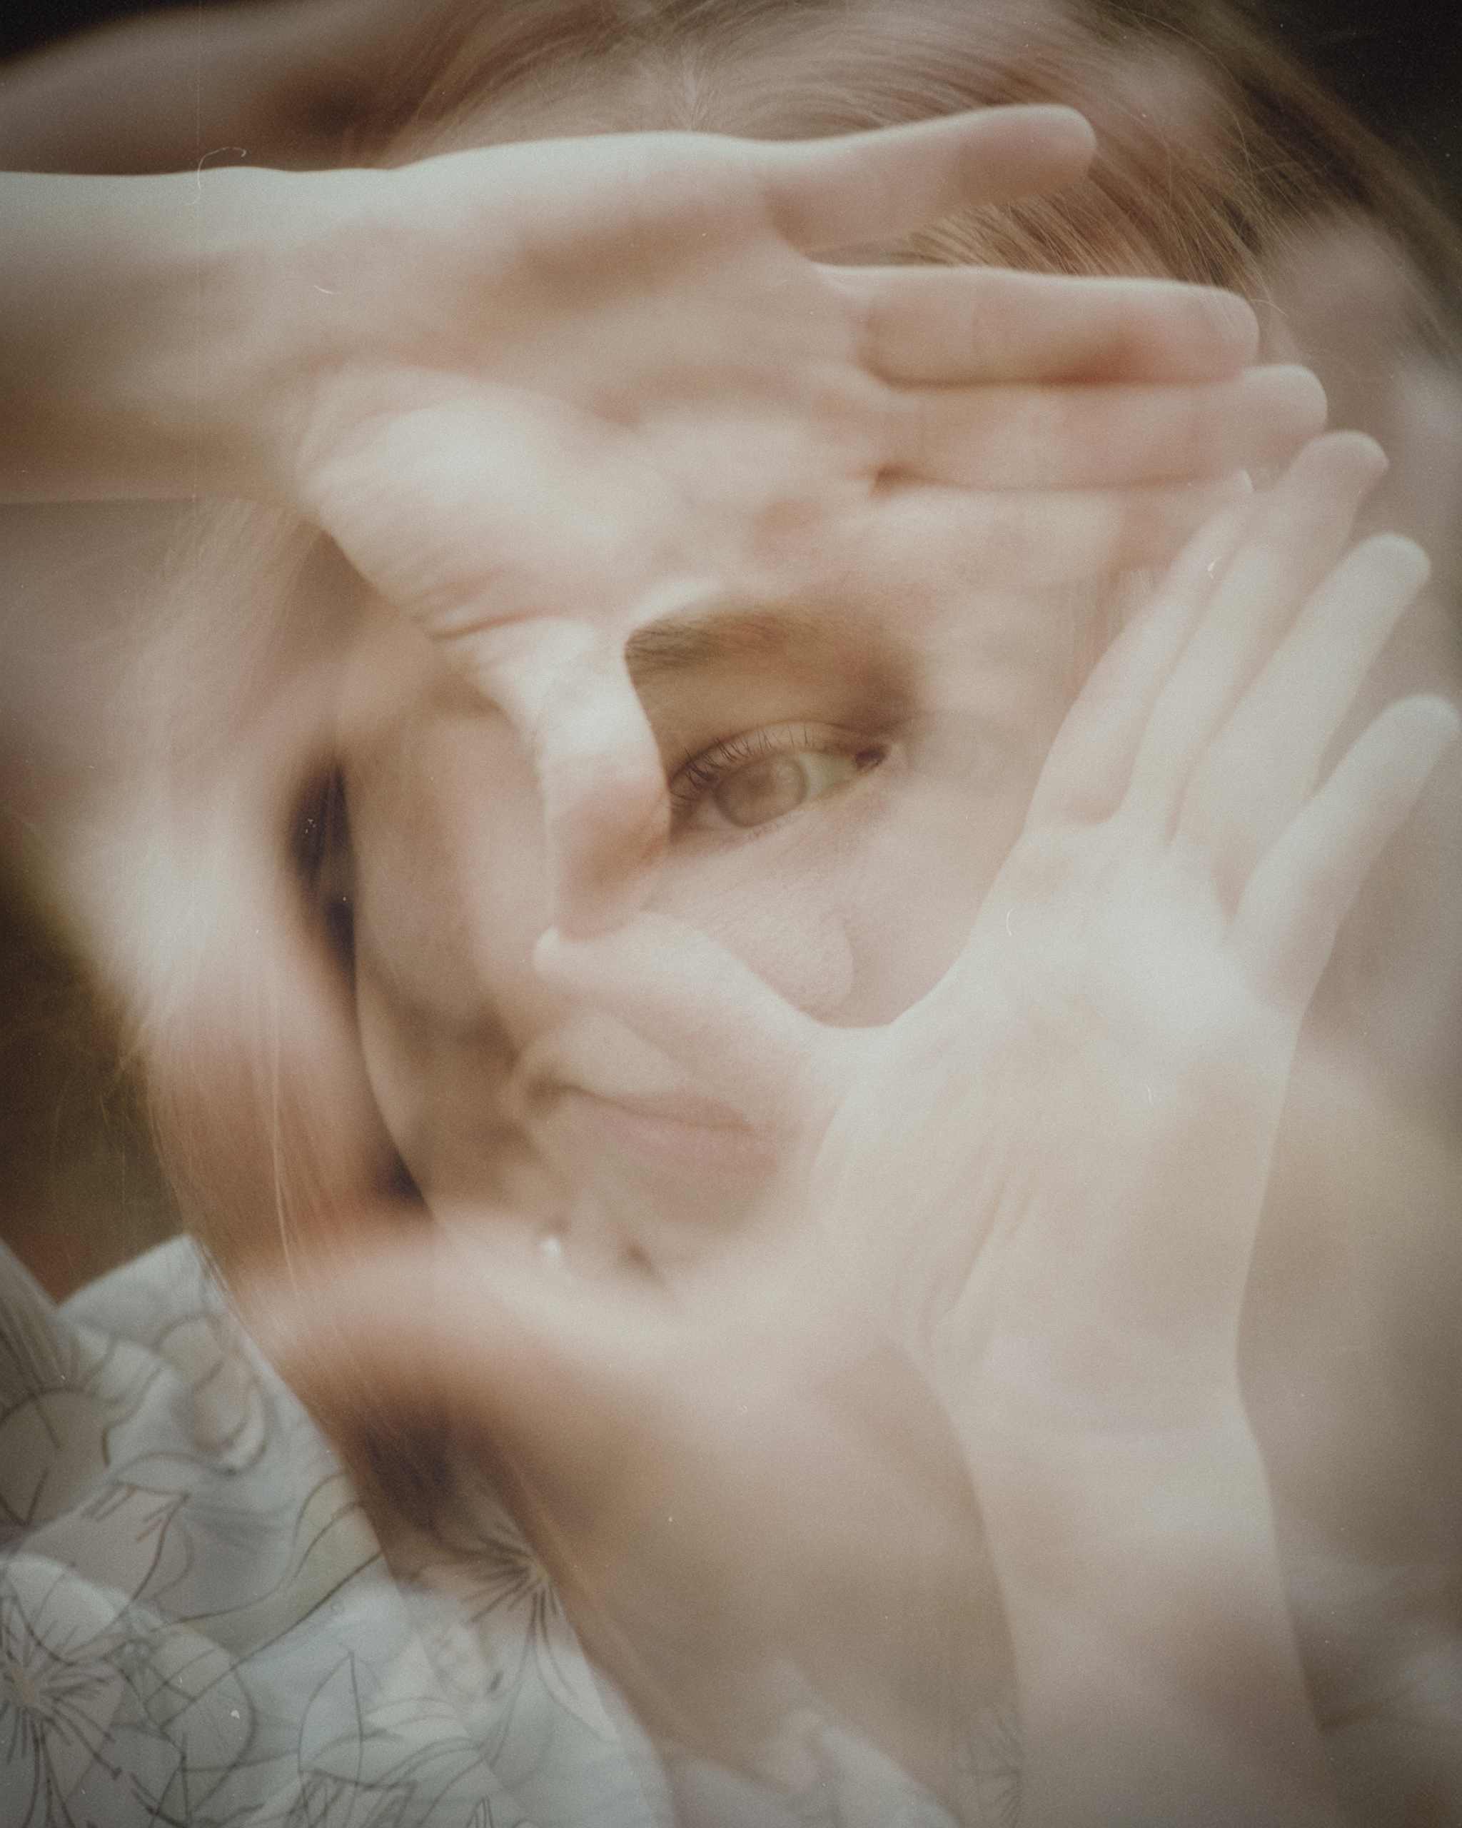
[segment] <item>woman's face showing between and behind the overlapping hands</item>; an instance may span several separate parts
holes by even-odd
[[[819,1020],[886,1022],[1020,830],[1073,693],[1073,605],[839,579],[651,623],[627,658],[674,806],[651,905]],[[585,1267],[698,1256],[755,1210],[768,1146],[535,978],[541,806],[506,718],[384,614],[347,696],[360,1036],[428,1205],[559,1234]]]

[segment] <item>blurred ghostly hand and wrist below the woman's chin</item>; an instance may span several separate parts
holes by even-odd
[[[450,1539],[457,1484],[486,1473],[651,1733],[755,1775],[815,1698],[985,1819],[980,1784],[1011,1779],[1011,1667],[959,1451],[795,1250],[722,1259],[669,1302],[397,1219],[232,1292],[382,1537],[393,1493],[422,1523],[435,1488]]]

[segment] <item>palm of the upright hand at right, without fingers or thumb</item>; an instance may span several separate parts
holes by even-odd
[[[1204,1234],[1197,1206],[1223,1179],[1257,1217],[1288,1066],[1212,883],[1126,835],[1018,846],[956,971],[872,1040],[813,1170],[811,1210],[895,1336],[1023,1428],[1087,1429],[1118,1397],[1149,1413],[1160,1351],[1232,1376],[1252,1230]]]

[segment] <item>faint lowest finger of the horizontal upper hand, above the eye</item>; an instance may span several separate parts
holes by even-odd
[[[895,486],[866,532],[883,552],[950,552],[987,589],[1042,589],[1166,565],[1248,479],[1159,488],[947,490]]]

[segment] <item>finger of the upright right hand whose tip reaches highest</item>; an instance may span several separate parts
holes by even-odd
[[[1162,687],[1133,764],[1126,812],[1164,835],[1193,768],[1338,563],[1385,455],[1354,431],[1307,446],[1254,510],[1208,612]]]

